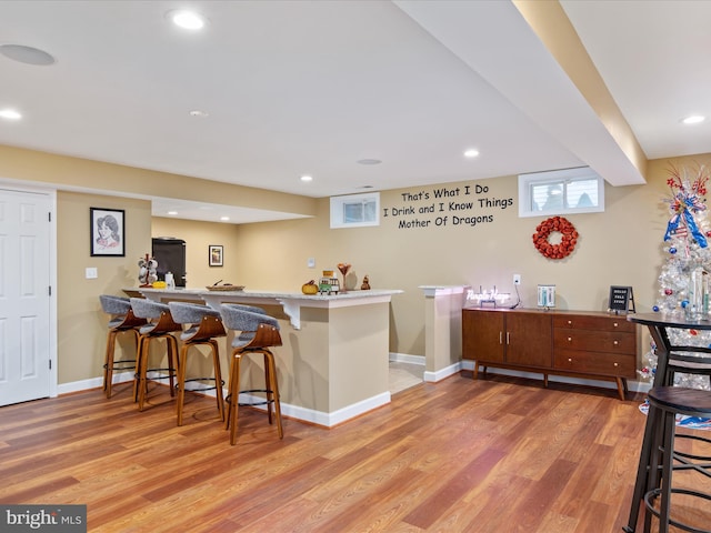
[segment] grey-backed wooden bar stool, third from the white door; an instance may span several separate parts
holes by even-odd
[[[183,403],[186,399],[186,383],[206,381],[214,382],[214,386],[203,386],[200,389],[190,389],[191,392],[204,392],[214,390],[220,420],[224,421],[224,400],[222,398],[222,381],[220,372],[220,351],[218,341],[214,339],[227,335],[222,326],[220,312],[207,305],[194,303],[170,302],[168,304],[173,320],[183,326],[187,325],[180,334],[182,346],[180,348],[180,359],[178,362],[178,425],[182,425]],[[212,353],[212,364],[214,368],[214,378],[191,378],[186,380],[188,368],[188,351],[191,346],[206,345],[210,348]]]

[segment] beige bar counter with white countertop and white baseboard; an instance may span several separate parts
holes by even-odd
[[[390,403],[390,301],[400,290],[348,291],[308,295],[270,291],[130,288],[131,295],[170,302],[258,305],[279,320],[283,345],[273,350],[287,416],[331,428]],[[229,369],[232,335],[220,345]],[[227,373],[224,374],[227,375]],[[247,376],[254,389],[263,373]]]

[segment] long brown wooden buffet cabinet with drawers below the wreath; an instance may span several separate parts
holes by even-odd
[[[479,366],[614,381],[637,375],[637,326],[623,315],[537,309],[462,310],[462,358]]]

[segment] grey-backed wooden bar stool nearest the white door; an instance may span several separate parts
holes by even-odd
[[[146,319],[139,319],[133,314],[131,301],[128,298],[101,294],[99,296],[101,309],[110,314],[109,334],[107,336],[107,351],[103,361],[103,392],[107,398],[111,398],[113,385],[113,371],[133,370],[136,371],[136,359],[114,359],[116,342],[119,333],[131,332],[138,351],[138,328],[146,325]]]

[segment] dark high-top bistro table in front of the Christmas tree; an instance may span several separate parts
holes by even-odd
[[[657,344],[657,372],[654,374],[653,386],[671,386],[675,372],[687,372],[692,374],[711,375],[711,348],[672,344],[668,330],[711,330],[709,320],[690,320],[683,315],[665,315],[662,313],[639,313],[630,314],[627,320],[637,324],[647,325],[649,332]],[[648,487],[647,470],[651,467],[649,462],[652,453],[652,423],[647,420],[644,428],[644,439],[640,452],[640,463],[634,483],[634,493],[630,507],[630,519],[628,525],[622,527],[628,533],[633,533],[637,527],[637,519],[640,503],[644,494],[652,487]]]

